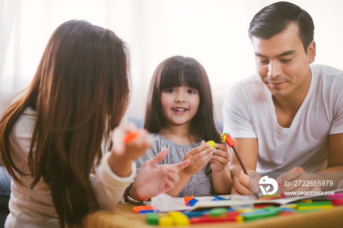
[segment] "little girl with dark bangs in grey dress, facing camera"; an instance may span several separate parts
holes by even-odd
[[[170,195],[230,192],[228,149],[214,123],[206,71],[195,59],[174,56],[156,68],[150,82],[144,128],[151,133],[152,148],[136,160],[138,168],[163,148],[168,148],[168,155],[162,164],[191,160],[188,167],[180,170],[180,181],[168,192]],[[217,149],[205,144],[209,140],[217,142]]]

